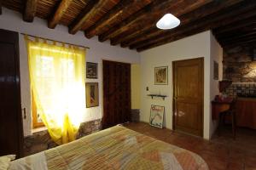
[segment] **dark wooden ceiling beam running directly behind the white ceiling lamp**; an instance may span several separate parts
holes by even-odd
[[[201,8],[197,8],[194,11],[191,11],[188,14],[183,14],[179,17],[181,20],[181,26],[184,26],[188,24],[189,22],[192,22],[194,20],[199,20],[203,17],[206,17],[209,14],[217,13],[219,10],[223,10],[224,8],[229,8],[230,6],[235,5],[236,3],[240,3],[241,1],[234,1],[234,0],[226,0],[226,1],[213,1],[212,3],[207,3],[206,5],[202,6]],[[178,29],[179,26],[175,29]],[[173,30],[170,31],[170,33]],[[130,36],[130,38],[125,38],[125,41],[121,41],[121,47],[128,47],[131,46],[131,44],[134,44],[136,42],[144,41],[150,37],[155,37],[157,35],[162,34],[163,32],[169,32],[169,31],[163,31],[155,26],[151,28],[151,31],[140,31],[138,32],[137,36]]]

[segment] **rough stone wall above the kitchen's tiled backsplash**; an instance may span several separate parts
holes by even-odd
[[[256,61],[252,60],[253,46],[224,48],[223,78],[232,82],[256,82]]]

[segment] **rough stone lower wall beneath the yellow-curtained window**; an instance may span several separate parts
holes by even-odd
[[[83,122],[79,127],[77,139],[82,138],[90,133],[96,133],[102,129],[102,121],[96,120],[91,122]],[[57,146],[55,142],[50,139],[47,130],[33,133],[32,136],[27,136],[24,139],[24,155],[29,156],[43,150],[48,150]]]

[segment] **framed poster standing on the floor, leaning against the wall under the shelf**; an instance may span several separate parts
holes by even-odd
[[[165,107],[160,105],[151,105],[149,124],[153,127],[163,127]]]

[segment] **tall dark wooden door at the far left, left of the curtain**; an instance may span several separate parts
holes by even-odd
[[[22,156],[19,35],[0,30],[0,156]]]

